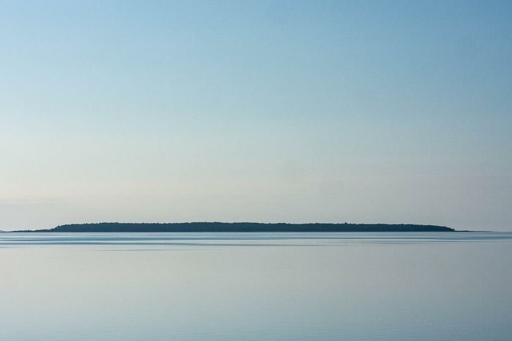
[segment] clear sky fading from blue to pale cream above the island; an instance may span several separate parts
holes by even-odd
[[[512,3],[3,1],[0,230],[512,231]]]

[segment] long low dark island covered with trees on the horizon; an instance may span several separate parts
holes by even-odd
[[[27,232],[453,232],[438,225],[258,222],[100,222],[59,225]]]

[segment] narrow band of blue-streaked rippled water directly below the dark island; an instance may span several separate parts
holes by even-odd
[[[327,246],[346,243],[482,242],[512,239],[509,232],[441,233],[2,233],[0,245]]]

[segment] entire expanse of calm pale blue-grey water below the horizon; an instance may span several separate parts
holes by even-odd
[[[511,340],[512,233],[0,234],[0,340]]]

